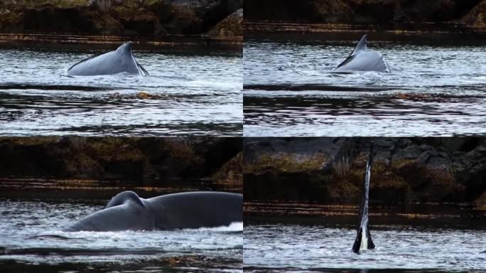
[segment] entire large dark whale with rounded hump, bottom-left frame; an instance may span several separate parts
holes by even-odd
[[[124,191],[103,210],[77,220],[63,231],[215,228],[242,220],[243,195],[239,193],[198,191],[144,199],[133,191]]]

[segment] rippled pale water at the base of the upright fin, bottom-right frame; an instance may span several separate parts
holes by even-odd
[[[319,223],[320,222],[320,223]],[[245,272],[485,272],[486,230],[371,225],[374,250],[352,252],[351,225],[245,223]],[[477,229],[479,228],[479,229]]]

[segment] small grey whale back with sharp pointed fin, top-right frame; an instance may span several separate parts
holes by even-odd
[[[367,37],[367,34],[362,36],[352,53],[337,68],[334,68],[333,72],[375,71],[390,73],[390,68],[382,54],[367,48]]]

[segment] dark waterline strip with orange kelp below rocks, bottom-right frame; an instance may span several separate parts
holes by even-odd
[[[378,212],[379,211],[379,212]],[[245,201],[243,215],[249,221],[276,223],[325,223],[355,225],[359,214],[358,205],[318,204],[318,203],[279,203]],[[396,205],[369,205],[369,215],[374,223],[416,223],[434,225],[441,223],[460,223],[477,221],[486,223],[486,208],[475,207],[472,203],[413,203]]]

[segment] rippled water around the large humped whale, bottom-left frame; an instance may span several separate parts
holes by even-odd
[[[60,231],[104,205],[92,200],[0,198],[0,271],[242,271],[242,223],[198,230]]]

